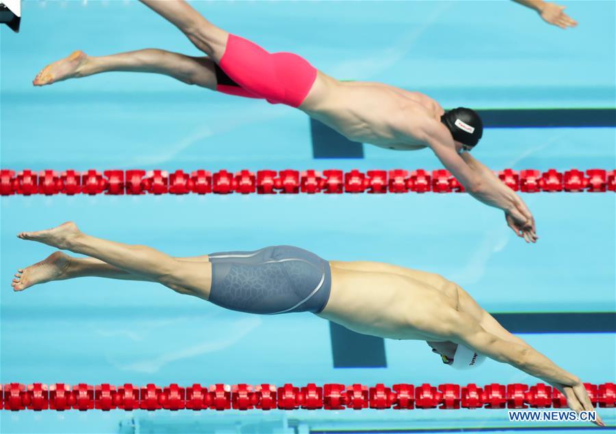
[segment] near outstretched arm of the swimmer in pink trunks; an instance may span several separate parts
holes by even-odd
[[[487,176],[480,166],[471,166],[465,162],[457,153],[454,140],[447,127],[436,120],[423,119],[421,122],[421,125],[407,125],[407,128],[412,129],[412,132],[409,131],[409,136],[419,135],[471,196],[486,205],[502,209],[507,216],[510,216],[507,218],[509,227],[517,235],[519,231],[522,231],[526,241],[534,242],[537,239],[534,221],[526,205],[523,205],[522,199],[519,199],[511,188],[502,185],[500,180],[496,182]]]

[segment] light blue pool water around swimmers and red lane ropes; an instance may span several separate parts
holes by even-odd
[[[74,49],[198,54],[139,3],[84,3],[25,1],[21,33],[0,30],[2,168],[440,167],[427,151],[372,146],[363,159],[313,159],[302,113],[168,77],[114,73],[31,87],[42,66]],[[339,78],[420,90],[445,107],[614,108],[616,5],[565,4],[576,29],[548,27],[505,1],[193,3],[271,51],[296,51]],[[612,169],[615,149],[613,127],[487,129],[474,155],[494,170]],[[177,256],[292,244],[326,259],[430,270],[494,313],[615,311],[615,196],[524,200],[541,237],[532,246],[501,212],[465,194],[2,197],[0,383],[536,383],[493,361],[480,372],[452,372],[424,342],[386,340],[387,368],[333,368],[329,324],[315,316],[224,311],[150,283],[79,279],[18,294],[9,285],[17,268],[51,253],[18,240],[18,231],[75,220],[93,235]],[[522,337],[584,381],[616,379],[613,333]],[[613,410],[600,414],[616,422]],[[488,410],[2,411],[0,423],[2,433],[532,431]]]

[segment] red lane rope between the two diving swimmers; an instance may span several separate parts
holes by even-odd
[[[512,190],[535,192],[616,192],[616,170],[504,169],[498,177]],[[448,170],[0,170],[0,195],[21,194],[307,194],[463,192]]]

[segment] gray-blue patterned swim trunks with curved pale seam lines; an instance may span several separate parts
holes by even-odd
[[[209,255],[209,301],[250,314],[313,312],[325,307],[331,290],[329,262],[292,246]]]

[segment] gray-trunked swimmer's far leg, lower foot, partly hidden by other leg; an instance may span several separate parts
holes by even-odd
[[[195,257],[177,257],[178,261],[208,262],[207,255]],[[118,279],[130,281],[154,282],[148,277],[136,275],[121,268],[114,267],[100,259],[93,257],[72,257],[61,251],[49,255],[36,264],[26,268],[20,268],[15,274],[11,286],[15,291],[23,291],[40,283],[48,283],[58,280],[77,279],[78,277],[101,277],[104,279]],[[189,293],[184,288],[174,288],[182,294]]]

